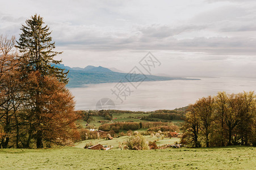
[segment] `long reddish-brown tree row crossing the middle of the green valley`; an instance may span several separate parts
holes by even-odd
[[[118,133],[119,130],[137,130],[141,128],[152,128],[157,126],[173,125],[169,122],[116,122],[113,124],[103,124],[99,126],[99,130],[110,131],[114,130]]]

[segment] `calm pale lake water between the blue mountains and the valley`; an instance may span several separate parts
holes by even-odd
[[[120,85],[117,83],[90,84],[86,87],[70,88],[70,91],[75,96],[75,109],[95,109],[96,103],[107,97],[114,101],[115,109],[154,111],[185,107],[195,103],[200,97],[216,95],[218,91],[237,93],[256,90],[256,79],[252,78],[200,79],[142,82],[137,89],[130,83],[124,83],[132,92],[126,100],[121,96],[123,103],[120,99],[116,99],[116,95],[112,95],[111,89],[117,90],[115,86]],[[125,94],[128,95],[128,92],[127,89]]]

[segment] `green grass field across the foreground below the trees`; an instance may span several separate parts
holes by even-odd
[[[1,149],[0,169],[255,169],[256,148]]]

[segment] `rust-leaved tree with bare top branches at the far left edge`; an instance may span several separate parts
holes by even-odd
[[[9,147],[10,137],[13,136],[15,122],[12,121],[18,114],[22,103],[22,87],[20,80],[19,62],[14,51],[15,37],[7,39],[7,36],[0,36],[0,126],[3,135],[0,141],[0,148]]]

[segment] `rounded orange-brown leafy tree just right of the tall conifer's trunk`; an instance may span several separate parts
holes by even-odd
[[[39,127],[44,141],[57,145],[68,145],[77,140],[75,121],[78,115],[74,112],[75,102],[71,92],[64,83],[54,76],[46,76],[40,95],[41,120]]]

